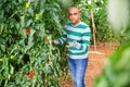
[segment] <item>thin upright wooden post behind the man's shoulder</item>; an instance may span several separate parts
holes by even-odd
[[[93,30],[93,42],[94,42],[94,51],[96,51],[96,40],[95,40],[95,33],[96,33],[96,28],[95,28],[95,24],[94,24],[94,17],[93,17],[93,11],[90,11],[90,17],[92,20],[92,30]]]

